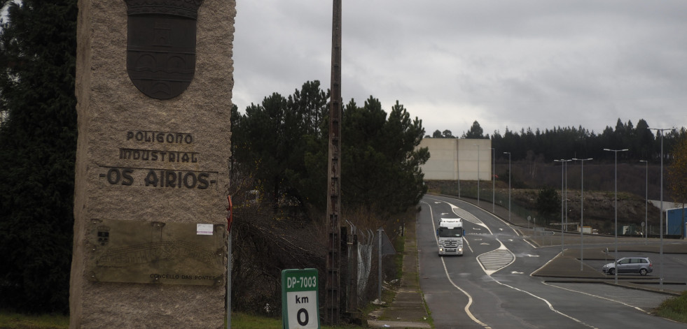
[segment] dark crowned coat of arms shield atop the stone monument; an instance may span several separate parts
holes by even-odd
[[[127,73],[144,94],[179,96],[195,73],[195,34],[203,0],[124,0]]]

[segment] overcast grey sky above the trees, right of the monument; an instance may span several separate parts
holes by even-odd
[[[308,80],[330,87],[331,0],[237,0],[241,113]],[[687,1],[342,0],[342,98],[396,100],[460,136],[687,126]]]

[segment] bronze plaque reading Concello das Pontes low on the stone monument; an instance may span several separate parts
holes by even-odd
[[[97,282],[224,282],[226,226],[161,221],[90,221],[88,274]]]

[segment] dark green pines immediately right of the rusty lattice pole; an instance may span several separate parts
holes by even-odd
[[[417,205],[426,192],[419,166],[429,159],[419,145],[422,121],[396,101],[389,117],[377,98],[370,96],[362,108],[349,104],[342,122],[342,200],[347,205],[404,212]]]

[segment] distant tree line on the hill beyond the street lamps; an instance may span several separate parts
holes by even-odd
[[[430,136],[425,136],[429,138]],[[433,132],[431,138],[458,138],[453,136],[450,130]],[[479,122],[473,122],[470,129],[460,138],[487,138],[492,140],[492,147],[496,149],[495,155],[499,161],[513,161],[522,163],[552,163],[558,159],[593,158],[595,163],[613,163],[616,152],[608,152],[604,149],[627,149],[617,152],[618,161],[634,162],[646,161],[648,165],[665,165],[666,189],[671,200],[679,203],[687,202],[687,129],[675,127],[665,131],[650,129],[644,119],[639,119],[637,126],[631,121],[623,123],[621,119],[616,122],[615,128],[606,126],[600,134],[590,132],[582,126],[556,127],[554,129],[527,130],[521,129],[520,133],[510,131],[501,135],[494,131],[492,136],[485,135]],[[504,157],[503,152],[511,152],[511,159]],[[662,161],[661,161],[662,160]],[[506,177],[508,175],[504,175]],[[541,181],[541,179],[540,179]],[[658,182],[655,184],[659,184]],[[555,203],[554,189],[543,187],[538,203]],[[560,196],[558,199],[560,200]],[[546,206],[543,207],[546,212]]]

